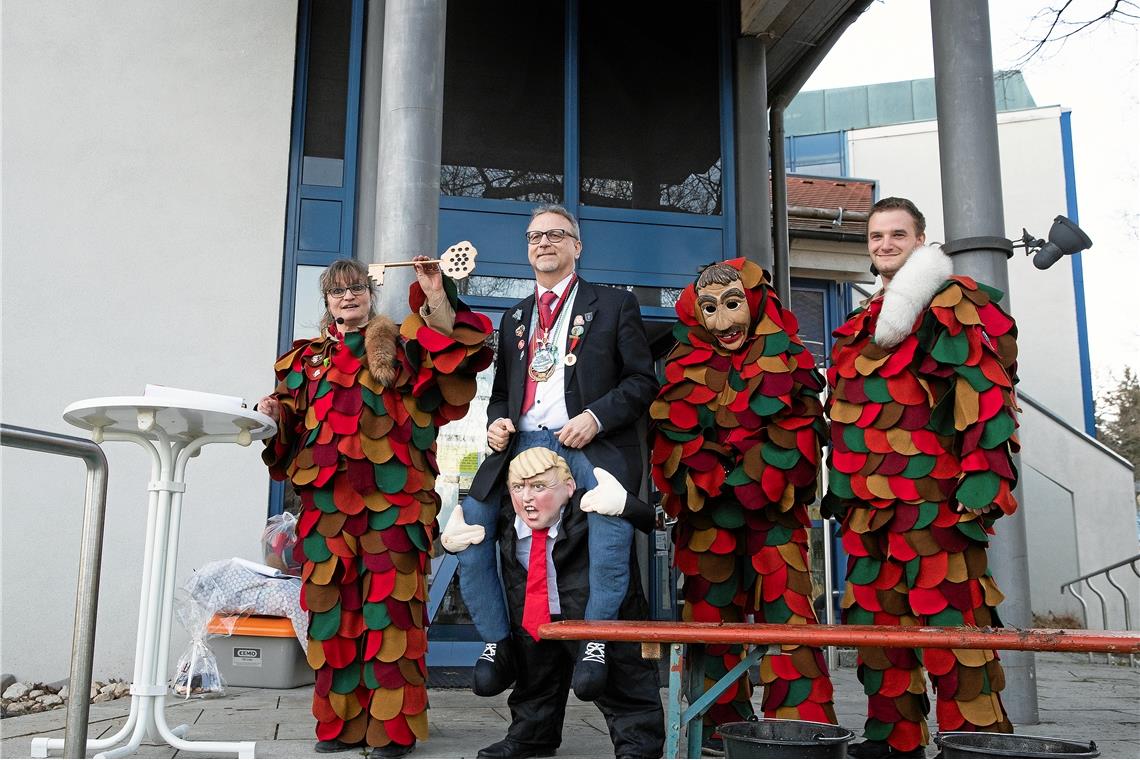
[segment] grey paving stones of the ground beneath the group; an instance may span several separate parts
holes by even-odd
[[[1043,653],[1036,657],[1041,722],[1018,733],[1072,741],[1093,739],[1102,758],[1140,758],[1140,668],[1109,665],[1102,655]],[[834,675],[839,721],[858,735],[865,703],[852,668]],[[189,739],[255,741],[258,758],[312,757],[311,687],[258,689],[233,687],[215,700],[168,698],[166,722],[189,725]],[[662,697],[665,693],[662,690]],[[130,710],[129,700],[91,705],[90,737],[113,736]],[[64,710],[6,718],[0,721],[0,757],[26,758],[33,736],[64,734]],[[412,755],[473,758],[479,747],[503,738],[510,712],[506,695],[481,698],[465,689],[433,689],[431,739]],[[931,733],[936,730],[931,726]],[[935,747],[928,749],[934,757]],[[352,760],[358,752],[321,755]],[[88,755],[90,757],[90,754]],[[136,758],[203,758],[173,747],[144,744]],[[220,755],[215,755],[220,757]],[[233,755],[226,755],[233,757]],[[601,713],[571,695],[560,758],[613,757]]]

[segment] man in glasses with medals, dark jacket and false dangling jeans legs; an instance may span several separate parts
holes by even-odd
[[[554,205],[535,209],[527,228],[535,295],[507,309],[499,325],[487,406],[487,443],[492,452],[443,536],[445,548],[450,536],[472,539],[458,553],[459,588],[487,643],[473,679],[475,693],[484,696],[499,694],[514,679],[494,553],[507,461],[519,451],[542,446],[567,459],[581,487],[593,488],[593,468],[602,467],[627,491],[641,488],[644,461],[636,424],[657,393],[649,340],[633,294],[577,276],[581,248],[578,223],[569,211]],[[594,562],[584,614],[587,620],[613,620],[630,585],[625,557],[633,529],[606,515],[591,515],[588,522]],[[579,655],[575,693],[593,698],[605,685],[605,644],[584,643]]]

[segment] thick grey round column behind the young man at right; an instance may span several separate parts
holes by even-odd
[[[987,0],[930,0],[934,38],[935,101],[938,112],[938,160],[947,252],[954,271],[1009,293],[1004,238],[997,116],[993,91],[993,55]],[[986,237],[979,237],[986,236]],[[1009,310],[1009,296],[1003,300]],[[1019,468],[1015,456],[1013,464]],[[1015,496],[1023,508],[1003,517],[990,544],[990,569],[1005,590],[1002,622],[1033,624],[1029,602],[1028,545],[1020,483]],[[1029,652],[1003,656],[1005,698],[1015,724],[1036,724],[1036,664]]]

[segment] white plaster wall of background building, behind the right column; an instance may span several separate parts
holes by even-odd
[[[1010,238],[1019,238],[1023,227],[1044,238],[1053,216],[1068,213],[1060,115],[1056,106],[997,115],[1002,205]],[[945,242],[936,122],[853,130],[847,147],[852,175],[877,178],[879,197],[914,201],[927,218],[927,239]],[[1084,430],[1072,260],[1041,271],[1018,250],[1009,261],[1009,283],[1021,387]]]

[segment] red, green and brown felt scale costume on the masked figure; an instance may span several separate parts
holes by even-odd
[[[806,505],[816,496],[826,436],[823,379],[767,276],[743,259],[739,272],[751,322],[728,351],[698,313],[695,285],[677,302],[677,346],[651,407],[653,480],[676,517],[676,564],[685,575],[683,619],[700,622],[816,622],[807,556]],[[708,646],[706,686],[743,656]],[[785,646],[760,665],[764,714],[836,722],[826,664],[817,648]],[[717,724],[754,714],[741,678],[706,714]]]

